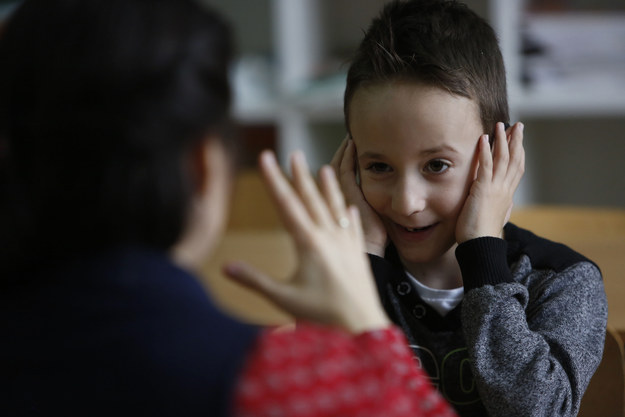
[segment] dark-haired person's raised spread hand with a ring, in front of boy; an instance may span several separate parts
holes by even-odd
[[[226,274],[298,319],[352,333],[388,326],[365,255],[358,209],[345,205],[333,169],[320,170],[319,187],[301,152],[291,156],[292,183],[271,152],[261,154],[260,169],[294,240],[298,266],[287,282],[243,263],[227,265]]]

